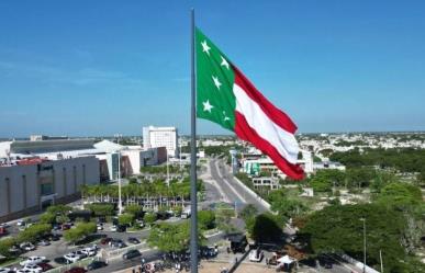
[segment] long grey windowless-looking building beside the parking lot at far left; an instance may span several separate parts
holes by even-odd
[[[99,183],[99,160],[76,157],[48,160],[27,158],[0,166],[0,221],[79,198],[83,184]]]

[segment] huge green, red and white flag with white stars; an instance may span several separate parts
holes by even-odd
[[[199,30],[197,116],[227,128],[269,156],[288,177],[302,179],[297,164],[297,125],[271,104],[231,60]]]

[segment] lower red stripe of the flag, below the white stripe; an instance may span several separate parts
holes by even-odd
[[[245,116],[235,111],[235,134],[243,140],[251,143],[257,149],[270,157],[275,164],[288,177],[301,180],[304,171],[299,164],[292,164],[284,159],[269,141],[261,138],[246,122]]]

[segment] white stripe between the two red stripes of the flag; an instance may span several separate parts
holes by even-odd
[[[299,146],[294,135],[275,124],[239,86],[233,84],[233,93],[236,96],[236,111],[245,116],[248,125],[290,163],[297,163]]]

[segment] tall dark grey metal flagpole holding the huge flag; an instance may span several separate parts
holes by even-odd
[[[198,273],[198,205],[197,205],[197,81],[194,55],[194,9],[191,15],[191,113],[190,113],[190,272]]]

